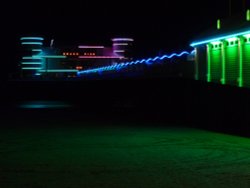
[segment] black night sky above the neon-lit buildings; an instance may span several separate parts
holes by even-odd
[[[16,66],[18,39],[32,34],[53,38],[58,46],[111,45],[112,37],[133,37],[136,57],[189,49],[196,35],[228,16],[228,1],[9,1],[0,13],[5,65]],[[241,2],[232,1],[239,12]]]

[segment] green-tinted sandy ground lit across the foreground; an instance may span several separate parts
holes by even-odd
[[[1,129],[1,188],[250,186],[248,138],[138,123],[49,126]]]

